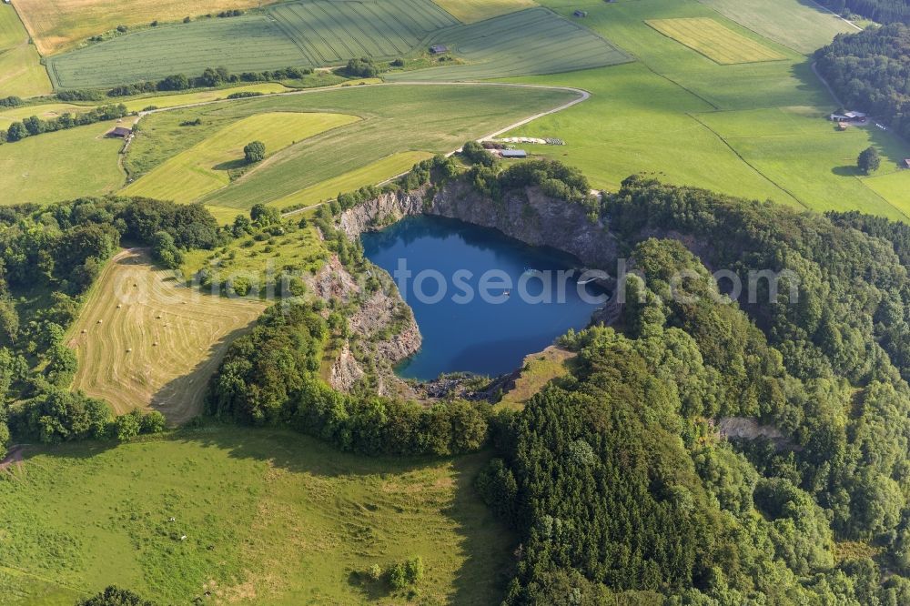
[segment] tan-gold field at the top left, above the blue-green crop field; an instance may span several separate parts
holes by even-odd
[[[253,8],[268,0],[15,0],[16,9],[42,55],[59,53],[117,25],[167,23],[186,16]]]

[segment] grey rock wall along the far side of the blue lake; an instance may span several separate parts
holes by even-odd
[[[426,187],[389,193],[345,211],[339,226],[350,238],[421,213],[492,227],[531,246],[547,246],[581,259],[591,268],[608,268],[618,254],[615,237],[602,223],[592,223],[584,207],[544,196],[538,187],[512,191],[501,202],[483,197],[469,184],[455,181],[427,199]]]

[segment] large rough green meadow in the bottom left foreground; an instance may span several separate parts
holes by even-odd
[[[158,603],[410,603],[359,573],[420,555],[416,603],[497,603],[514,544],[473,494],[483,461],[220,426],[32,449],[0,472],[0,600],[69,606],[116,583]]]

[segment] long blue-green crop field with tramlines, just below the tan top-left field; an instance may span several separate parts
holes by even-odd
[[[48,60],[55,86],[113,86],[170,74],[334,66],[349,58],[407,55],[430,33],[457,25],[431,0],[299,0],[266,13],[159,26]],[[116,57],[116,58],[115,58]]]

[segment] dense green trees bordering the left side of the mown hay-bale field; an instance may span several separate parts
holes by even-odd
[[[66,328],[122,243],[166,241],[179,252],[230,237],[204,207],[144,198],[0,209],[0,456],[14,437],[129,439],[163,427],[160,416],[115,419],[101,400],[69,392],[76,354]]]

